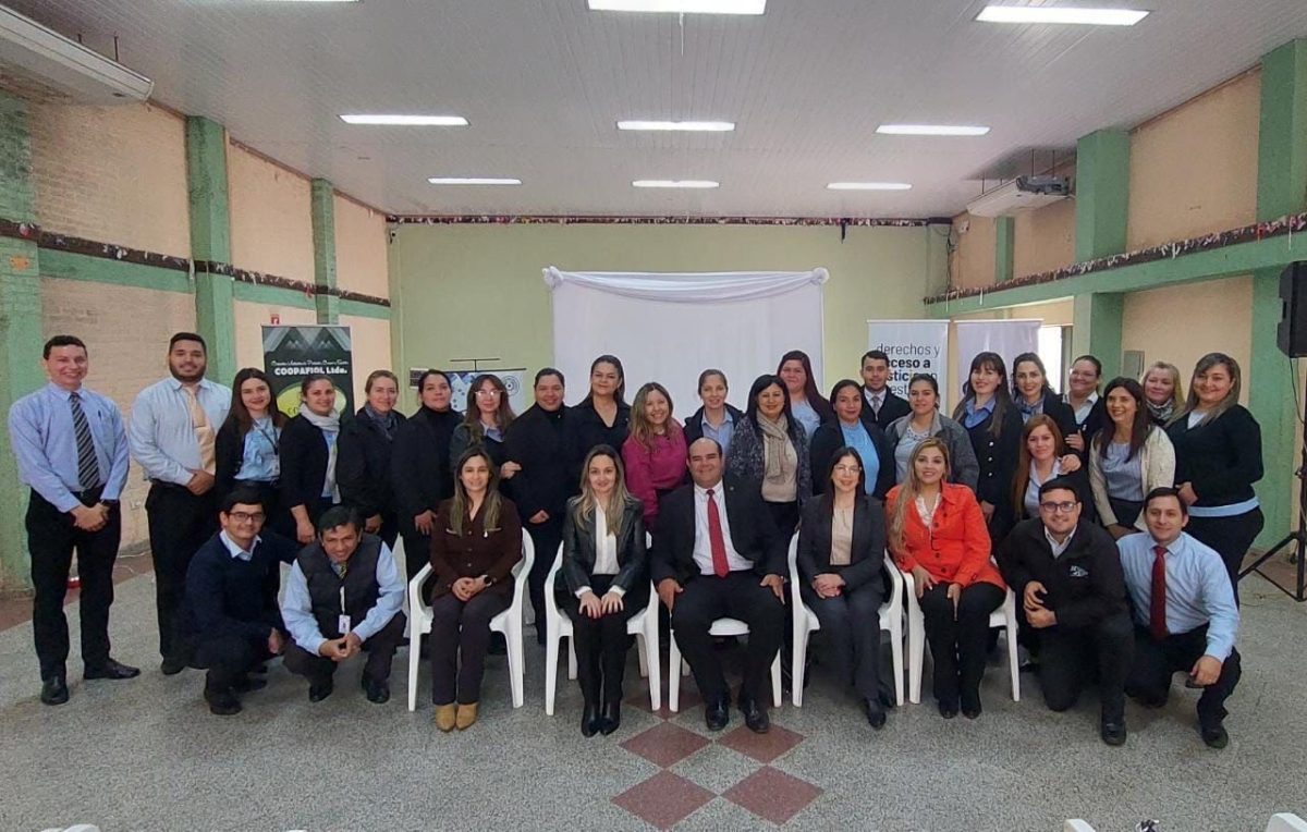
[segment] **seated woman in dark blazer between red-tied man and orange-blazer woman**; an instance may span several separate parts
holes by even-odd
[[[853,448],[833,453],[825,477],[825,494],[804,505],[799,526],[799,592],[830,635],[836,678],[853,683],[867,721],[880,730],[894,704],[880,678],[885,513],[867,495],[867,470]]]

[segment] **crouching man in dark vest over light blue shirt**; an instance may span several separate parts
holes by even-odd
[[[308,678],[308,701],[331,696],[336,667],[367,649],[367,700],[391,697],[391,662],[404,637],[404,580],[391,550],[349,508],[337,505],[318,521],[286,581],[281,615],[293,644],[286,670]]]

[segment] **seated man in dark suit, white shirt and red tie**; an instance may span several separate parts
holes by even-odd
[[[690,477],[659,504],[651,572],[672,616],[672,630],[707,703],[708,730],[731,721],[729,691],[708,628],[719,618],[749,626],[738,707],[758,734],[767,718],[767,670],[788,622],[784,609],[786,541],[757,488],[723,479],[721,447],[699,439],[689,448]]]

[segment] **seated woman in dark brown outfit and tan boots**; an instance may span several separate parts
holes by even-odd
[[[442,731],[477,720],[490,619],[512,602],[521,559],[518,508],[499,494],[486,451],[464,451],[455,472],[454,498],[440,503],[431,529],[431,696]]]

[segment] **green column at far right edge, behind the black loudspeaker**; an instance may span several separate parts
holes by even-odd
[[[1290,40],[1261,59],[1261,118],[1257,140],[1257,219],[1307,210],[1307,39]],[[1294,438],[1302,402],[1294,393],[1293,362],[1276,346],[1283,313],[1281,269],[1252,274],[1252,359],[1247,368],[1248,409],[1261,424],[1265,475],[1257,499],[1266,526],[1265,547],[1293,522],[1298,482]],[[1300,392],[1299,392],[1300,393]]]

